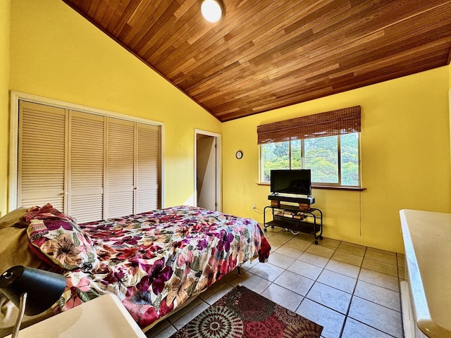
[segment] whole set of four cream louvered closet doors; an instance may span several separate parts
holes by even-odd
[[[19,102],[18,206],[78,222],[159,208],[161,126]]]

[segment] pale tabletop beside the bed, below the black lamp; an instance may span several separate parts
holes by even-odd
[[[11,337],[11,336],[8,336]],[[20,338],[146,338],[118,297],[105,294],[20,330]]]

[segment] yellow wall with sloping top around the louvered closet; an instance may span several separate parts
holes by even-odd
[[[0,2],[3,26],[8,11]],[[63,1],[11,1],[10,78],[11,90],[163,122],[165,206],[193,203],[194,128],[221,132],[221,123]],[[3,98],[7,87],[0,86]],[[0,105],[3,126],[8,115]],[[4,168],[0,175],[3,186]]]

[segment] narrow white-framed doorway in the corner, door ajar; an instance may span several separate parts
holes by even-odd
[[[195,205],[221,211],[221,134],[195,130]]]

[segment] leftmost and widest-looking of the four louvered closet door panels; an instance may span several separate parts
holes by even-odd
[[[19,102],[18,206],[64,210],[66,111]]]

